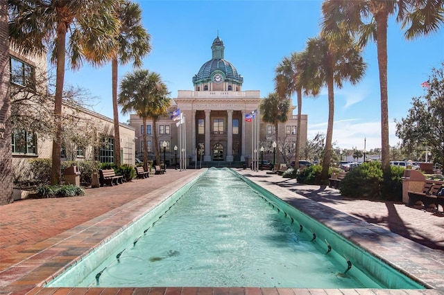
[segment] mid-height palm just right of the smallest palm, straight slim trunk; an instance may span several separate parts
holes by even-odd
[[[278,64],[275,69],[275,89],[280,99],[289,98],[294,93],[298,99],[298,126],[296,127],[296,147],[295,147],[295,163],[299,163],[300,158],[300,125],[302,116],[302,90],[306,96],[317,96],[321,87],[319,84],[312,84],[311,78],[305,78],[303,75],[303,65],[305,60],[302,59],[301,53],[291,53],[289,57]]]

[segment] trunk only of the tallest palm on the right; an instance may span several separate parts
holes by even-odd
[[[387,92],[387,15],[375,15],[377,26],[377,64],[379,67],[379,88],[381,92],[381,160],[384,178],[390,172],[390,143],[388,140],[388,92]]]

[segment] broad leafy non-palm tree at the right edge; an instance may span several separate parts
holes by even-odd
[[[396,136],[407,152],[432,152],[434,161],[444,163],[444,62],[432,69],[425,96],[412,98],[406,118],[396,123]]]

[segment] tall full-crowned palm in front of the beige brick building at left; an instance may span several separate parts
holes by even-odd
[[[25,55],[50,51],[56,64],[56,93],[51,184],[60,184],[62,150],[62,102],[65,59],[79,69],[83,59],[99,66],[116,50],[119,21],[112,0],[8,1],[10,44]]]

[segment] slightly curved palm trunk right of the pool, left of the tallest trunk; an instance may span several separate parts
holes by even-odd
[[[332,137],[334,118],[334,84],[333,75],[327,76],[328,89],[328,124],[327,135],[325,136],[325,147],[322,161],[321,184],[328,184],[328,170],[330,168],[330,158],[332,157]]]

